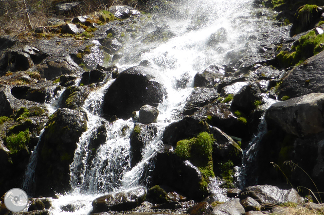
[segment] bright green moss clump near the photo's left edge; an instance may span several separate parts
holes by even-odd
[[[20,131],[18,134],[11,134],[5,139],[6,146],[12,154],[18,153],[20,150],[26,148],[29,141],[29,129]]]

